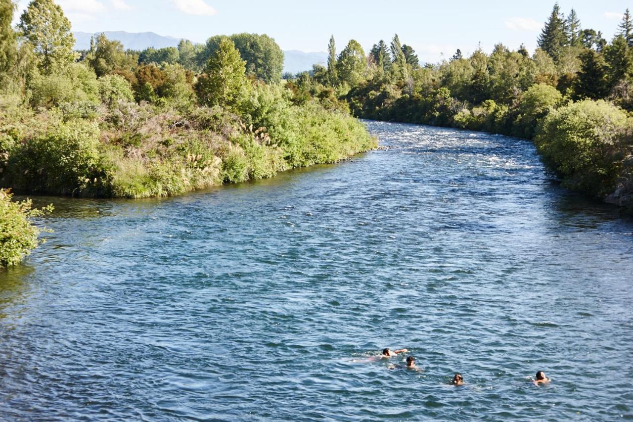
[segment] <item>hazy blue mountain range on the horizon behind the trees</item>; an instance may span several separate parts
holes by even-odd
[[[90,48],[90,39],[92,35],[89,32],[74,32],[75,49],[87,50]],[[99,33],[100,34],[100,33]],[[121,41],[123,46],[131,50],[144,50],[149,47],[165,48],[176,47],[180,42],[180,38],[164,37],[163,35],[154,34],[154,32],[124,32],[124,31],[105,31],[108,39]],[[312,65],[325,65],[327,61],[327,53],[304,53],[299,50],[284,51],[284,72],[298,74],[304,70],[311,70]]]

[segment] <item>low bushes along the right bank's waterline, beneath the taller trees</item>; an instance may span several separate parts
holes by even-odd
[[[530,87],[509,109],[451,97],[398,99],[355,115],[372,120],[484,131],[533,141],[562,186],[633,214],[633,118],[608,101],[571,101],[546,84]],[[349,99],[350,104],[358,104]],[[429,105],[431,104],[431,105]],[[439,112],[438,112],[439,110]]]

